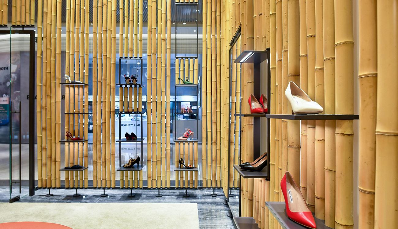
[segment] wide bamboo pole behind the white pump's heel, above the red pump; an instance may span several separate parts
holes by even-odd
[[[299,0],[287,2],[287,23],[288,27],[288,69],[287,81],[293,81],[300,85],[300,7]],[[287,102],[287,114],[291,114],[291,105]],[[287,171],[293,179],[300,183],[300,121],[287,121]]]

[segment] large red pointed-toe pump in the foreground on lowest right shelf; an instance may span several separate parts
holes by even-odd
[[[289,172],[286,172],[281,180],[281,189],[285,198],[287,217],[304,227],[316,229],[314,216],[308,210],[300,189]]]

